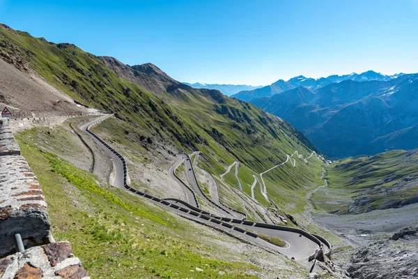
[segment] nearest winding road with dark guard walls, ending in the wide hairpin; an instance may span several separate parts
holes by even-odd
[[[201,211],[201,209],[198,209],[197,206],[191,205],[189,209],[187,209],[183,206],[180,206],[180,204],[184,204],[185,202],[180,202],[180,204],[174,204],[168,202],[167,200],[153,197],[146,193],[142,193],[139,190],[131,188],[127,185],[127,168],[123,156],[121,156],[121,154],[112,149],[111,146],[106,144],[97,135],[95,135],[89,130],[89,128],[93,127],[97,123],[100,123],[101,121],[104,121],[104,119],[107,119],[111,116],[113,116],[113,114],[105,114],[104,116],[101,116],[99,119],[94,119],[93,121],[85,124],[80,128],[86,131],[88,135],[91,135],[91,137],[94,138],[95,142],[99,144],[99,146],[101,146],[104,150],[109,152],[115,170],[114,181],[112,183],[114,187],[121,188],[123,190],[128,190],[133,195],[146,197],[148,200],[159,204],[165,209],[174,211],[180,216],[184,216],[185,218],[188,218],[190,220],[198,221],[199,223],[210,225],[211,227],[217,227],[219,229],[224,230],[225,232],[229,232],[229,234],[238,235],[253,243],[258,243],[259,245],[264,246],[266,248],[270,248],[274,251],[281,252],[288,257],[295,257],[296,259],[305,259],[309,257],[309,255],[311,255],[316,250],[316,248],[318,248],[318,246],[321,244],[321,241],[323,241],[323,243],[329,246],[329,243],[327,243],[325,239],[320,241],[318,238],[316,238],[316,236],[313,236],[308,232],[304,232],[302,229],[280,227],[276,225],[268,225],[263,223],[253,223],[251,221],[243,221],[231,218],[221,218],[219,216],[214,216],[213,214],[210,214],[208,212]],[[195,183],[196,192],[201,192],[199,185],[197,184],[196,178],[194,177],[194,170],[192,164],[189,160],[187,160],[188,157],[185,155],[180,155],[180,158],[183,158],[183,160],[185,160],[186,172],[190,172],[190,174],[187,173],[187,178],[190,179],[190,181],[192,182],[195,181],[191,183],[191,185],[194,187],[193,184]],[[182,185],[183,184],[184,183],[182,183]],[[192,207],[195,207],[195,210],[192,210]],[[260,239],[257,233],[277,237],[286,241],[287,245],[285,247],[274,246],[272,243],[268,243],[263,239]]]

